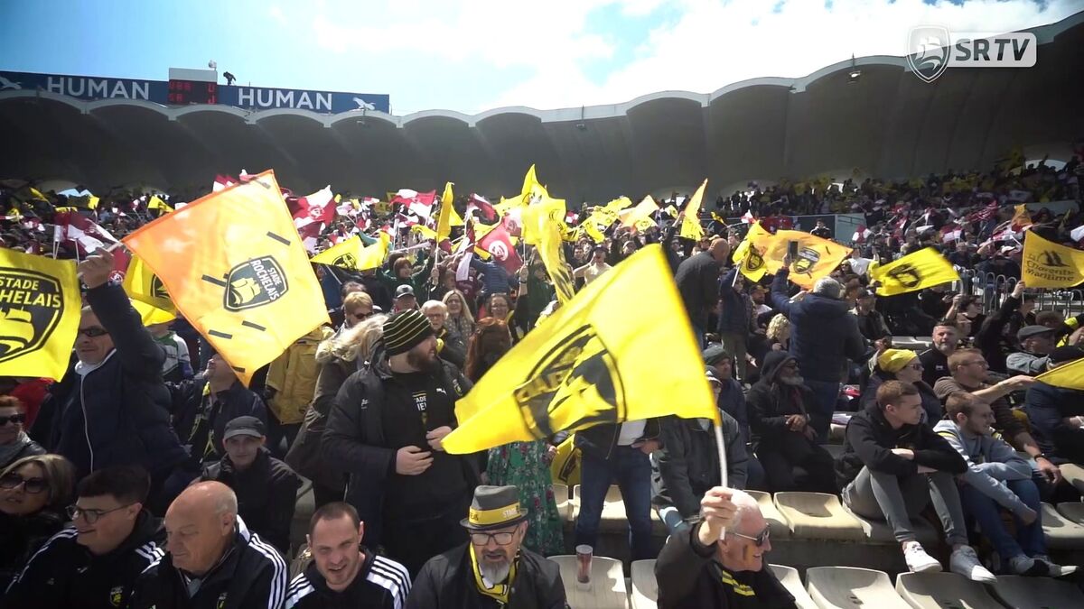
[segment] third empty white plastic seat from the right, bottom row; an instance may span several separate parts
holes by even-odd
[[[892,581],[885,571],[813,567],[805,571],[805,588],[821,609],[909,609],[892,589]]]

